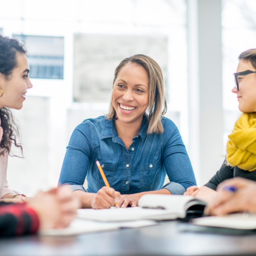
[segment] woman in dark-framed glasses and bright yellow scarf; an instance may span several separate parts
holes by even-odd
[[[207,184],[189,187],[184,195],[211,201],[224,180],[243,177],[256,181],[256,49],[241,53],[234,79],[232,92],[237,94],[238,108],[243,114],[229,135],[226,159]]]

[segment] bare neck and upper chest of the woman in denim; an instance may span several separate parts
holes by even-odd
[[[132,139],[133,137],[136,137],[140,131],[142,121],[143,117],[132,123],[125,123],[120,121],[119,119],[115,120],[115,126],[118,136],[121,139],[124,137],[126,139]]]

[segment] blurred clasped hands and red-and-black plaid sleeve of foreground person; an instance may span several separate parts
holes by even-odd
[[[23,203],[0,201],[0,237],[65,228],[75,218],[79,207],[79,201],[66,187],[40,191]]]

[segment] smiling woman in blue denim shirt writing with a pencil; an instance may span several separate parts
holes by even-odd
[[[137,206],[146,193],[183,194],[196,181],[178,128],[162,117],[166,110],[159,65],[146,55],[124,59],[115,70],[109,113],[74,129],[59,185],[69,184],[82,207],[94,209],[115,201]],[[171,182],[163,186],[166,174]]]

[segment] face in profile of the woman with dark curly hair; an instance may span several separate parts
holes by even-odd
[[[0,73],[0,89],[3,90],[3,95],[0,97],[1,108],[21,109],[26,99],[27,89],[32,87],[28,78],[29,66],[26,55],[17,52],[16,58],[17,66],[8,78]]]

